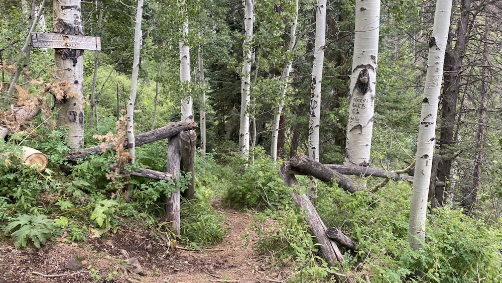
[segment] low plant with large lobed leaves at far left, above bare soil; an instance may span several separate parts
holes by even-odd
[[[54,221],[46,215],[22,214],[9,223],[4,232],[11,234],[16,248],[27,247],[29,241],[40,248],[40,244],[45,244],[47,238],[52,235],[53,227]]]

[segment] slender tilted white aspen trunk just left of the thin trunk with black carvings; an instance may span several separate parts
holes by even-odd
[[[298,23],[298,0],[295,0],[295,15],[293,18],[293,23],[291,25],[291,38],[289,42],[289,52],[292,54],[296,43],[296,25]],[[289,73],[291,71],[291,66],[293,65],[293,57],[289,59],[288,64],[284,68],[281,74],[281,81],[283,85],[281,86],[281,99],[277,107],[277,112],[274,114],[274,123],[272,126],[272,148],[270,155],[272,160],[277,161],[277,139],[279,137],[279,121],[281,120],[281,114],[284,108],[284,98],[286,97],[286,90],[289,84]]]

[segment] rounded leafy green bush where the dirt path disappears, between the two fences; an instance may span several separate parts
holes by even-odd
[[[249,163],[241,156],[228,158],[228,166],[233,168],[230,175],[224,176],[232,180],[227,187],[223,202],[235,208],[278,208],[291,202],[289,188],[277,173],[279,163],[274,164],[261,148],[255,148],[250,155]]]

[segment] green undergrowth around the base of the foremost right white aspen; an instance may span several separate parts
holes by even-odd
[[[372,274],[376,282],[466,282],[478,276],[494,282],[502,273],[500,228],[445,207],[428,216],[424,249],[413,251],[408,244],[410,195],[404,182],[391,182],[372,197],[336,187],[320,190],[316,205],[326,226],[349,231],[358,242],[354,264],[345,268],[354,268],[356,277]],[[370,270],[356,271],[359,262]]]

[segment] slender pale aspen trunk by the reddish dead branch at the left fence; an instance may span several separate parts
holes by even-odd
[[[127,111],[127,138],[129,142],[129,162],[135,161],[135,138],[134,138],[134,104],[136,102],[136,91],[138,89],[138,73],[140,69],[140,51],[141,51],[141,22],[143,19],[143,0],[138,0],[136,9],[136,26],[134,28],[134,55],[133,55],[133,74],[131,76],[131,94],[126,107]]]

